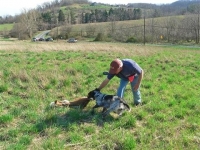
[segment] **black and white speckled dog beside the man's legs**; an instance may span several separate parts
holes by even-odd
[[[131,110],[129,105],[122,98],[116,95],[102,94],[98,89],[90,91],[87,97],[89,99],[92,98],[93,100],[96,100],[96,105],[93,107],[92,113],[94,113],[95,108],[103,107],[103,118],[112,111],[120,116],[122,115],[123,111]]]

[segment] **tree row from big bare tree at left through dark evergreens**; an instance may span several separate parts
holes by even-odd
[[[77,14],[73,9],[47,11],[24,9],[11,31],[12,37],[19,39],[32,38],[38,30],[51,30],[61,25],[87,24],[94,22],[125,21],[141,19],[141,9],[110,8],[110,10],[95,9],[94,11]]]

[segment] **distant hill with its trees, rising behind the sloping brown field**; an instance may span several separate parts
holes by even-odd
[[[72,25],[78,24],[89,26],[91,23],[123,22],[140,20],[143,17],[148,19],[184,16],[185,14],[196,14],[199,10],[200,2],[197,0],[180,0],[171,4],[161,5],[151,3],[109,5],[91,3],[88,0],[54,0],[17,16],[7,16],[5,18],[0,16],[0,24],[13,24],[15,22],[10,32],[12,33],[11,36],[17,37],[23,33],[23,38],[31,38],[33,33],[37,31],[52,30],[58,26],[64,26],[65,28],[62,30],[66,32],[71,30]],[[28,22],[31,22],[31,24],[28,24]],[[19,32],[21,33],[19,34]],[[67,35],[65,36],[67,37]]]

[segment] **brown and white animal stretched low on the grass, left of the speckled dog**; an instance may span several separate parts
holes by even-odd
[[[81,109],[83,109],[87,106],[89,101],[90,101],[90,99],[87,98],[87,97],[77,98],[77,99],[74,99],[73,101],[68,101],[68,100],[58,101],[58,100],[55,100],[54,102],[50,103],[50,106],[51,107],[56,107],[56,106],[80,107]]]

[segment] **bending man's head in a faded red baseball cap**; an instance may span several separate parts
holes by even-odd
[[[120,59],[115,59],[110,63],[110,74],[118,74],[123,67],[123,63]]]

